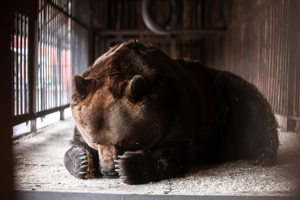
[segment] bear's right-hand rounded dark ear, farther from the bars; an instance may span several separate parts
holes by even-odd
[[[134,76],[125,88],[125,96],[133,103],[143,98],[148,91],[147,81],[141,75]]]

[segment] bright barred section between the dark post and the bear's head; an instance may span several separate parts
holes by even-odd
[[[71,8],[70,1],[39,2],[37,112],[68,105],[73,74],[88,66],[88,30]]]

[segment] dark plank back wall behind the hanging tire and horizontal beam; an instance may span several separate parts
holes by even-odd
[[[92,1],[93,27],[95,30],[148,30],[142,19],[142,0],[110,0]],[[222,6],[223,0],[183,0],[182,19],[176,30],[212,30],[224,27]],[[153,6],[153,14],[158,24],[163,24],[169,16],[168,2],[157,0]],[[95,58],[102,55],[115,43],[129,39],[151,42],[173,58],[189,57],[201,60],[209,67],[215,67],[215,35],[214,36],[95,36]],[[110,42],[113,40],[114,42]],[[205,49],[205,51],[204,51]]]

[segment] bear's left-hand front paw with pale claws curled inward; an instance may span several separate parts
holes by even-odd
[[[92,155],[83,147],[75,146],[69,149],[65,153],[64,163],[68,171],[76,178],[95,178]]]

